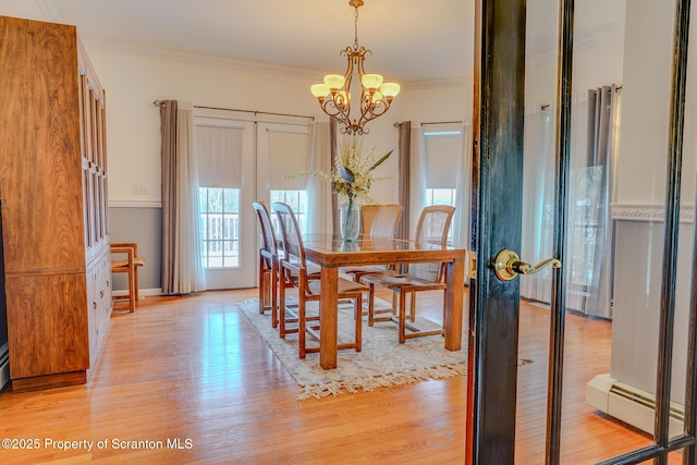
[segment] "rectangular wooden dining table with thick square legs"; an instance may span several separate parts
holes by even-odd
[[[445,299],[443,311],[444,346],[462,348],[462,319],[467,250],[426,242],[367,235],[344,241],[337,234],[313,233],[303,237],[305,257],[321,267],[319,297],[319,365],[337,368],[337,333],[339,320],[339,268],[363,265],[402,265],[417,262],[445,264]]]

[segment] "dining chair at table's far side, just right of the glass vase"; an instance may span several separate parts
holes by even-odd
[[[394,237],[396,227],[402,216],[403,207],[401,205],[363,205],[360,206],[362,224],[364,227],[364,235],[376,240],[380,237]],[[353,277],[355,282],[360,282],[360,277],[367,273],[378,273],[392,266],[357,266],[341,268],[341,271]]]

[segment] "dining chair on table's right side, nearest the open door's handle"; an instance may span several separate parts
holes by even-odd
[[[430,205],[421,210],[421,215],[416,227],[416,242],[421,246],[432,244],[435,246],[448,245],[448,234],[453,219],[455,207],[449,205]],[[407,339],[420,338],[433,334],[443,334],[442,325],[438,329],[421,329],[415,325],[416,321],[416,294],[421,291],[443,291],[443,309],[445,308],[444,282],[445,265],[435,264],[411,264],[406,273],[387,271],[380,273],[368,273],[362,277],[362,282],[368,285],[368,326],[375,321],[393,321],[399,326],[399,341],[403,344]],[[396,315],[386,317],[375,316],[375,287],[388,287],[399,295]],[[411,296],[409,314],[407,322],[406,296]],[[394,313],[394,311],[393,311]],[[409,330],[407,333],[406,330]]]

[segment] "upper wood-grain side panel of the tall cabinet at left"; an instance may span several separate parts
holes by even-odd
[[[76,53],[72,26],[0,17],[8,271],[85,266]]]

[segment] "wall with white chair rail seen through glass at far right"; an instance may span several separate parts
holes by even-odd
[[[622,136],[617,159],[616,272],[610,376],[647,392],[656,390],[658,322],[661,310],[670,87],[674,1],[627,2]],[[693,7],[695,30],[697,9]],[[647,32],[650,30],[650,34]],[[692,34],[694,36],[694,34]],[[672,400],[683,403],[687,364],[689,277],[697,144],[695,118],[697,50],[692,47],[683,146],[673,350]]]

